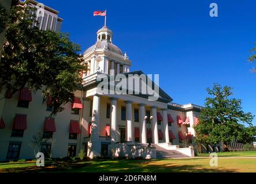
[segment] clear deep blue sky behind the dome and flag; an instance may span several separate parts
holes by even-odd
[[[127,52],[131,70],[159,74],[160,86],[179,104],[203,105],[213,83],[234,89],[243,109],[256,115],[256,73],[250,49],[256,42],[254,0],[225,1],[40,1],[60,11],[62,32],[82,52],[95,43],[107,9],[113,43]],[[210,3],[218,17],[210,17]],[[256,118],[254,120],[256,125]]]

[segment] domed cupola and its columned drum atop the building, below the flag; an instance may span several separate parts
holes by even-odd
[[[112,43],[112,30],[103,26],[97,31],[97,42],[84,51],[84,62],[87,64],[87,71],[83,78],[95,72],[102,72],[108,75],[123,74],[129,72],[131,60],[120,48]]]

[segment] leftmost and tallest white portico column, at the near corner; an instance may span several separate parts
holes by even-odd
[[[88,145],[90,158],[101,156],[101,142],[99,141],[99,104],[101,97],[98,94],[94,95],[92,102],[92,118],[91,118],[91,140]]]

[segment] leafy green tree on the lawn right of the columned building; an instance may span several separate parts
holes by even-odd
[[[243,112],[240,99],[231,98],[231,87],[221,87],[215,83],[213,89],[206,90],[210,97],[205,99],[205,107],[195,126],[196,139],[206,145],[221,141],[224,151],[228,151],[230,141],[252,142],[256,132],[251,123],[254,116],[250,112]],[[248,124],[248,127],[244,124]]]

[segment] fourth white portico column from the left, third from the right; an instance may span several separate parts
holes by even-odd
[[[139,105],[139,122],[140,122],[140,143],[147,143],[147,130],[145,120],[145,104]]]

